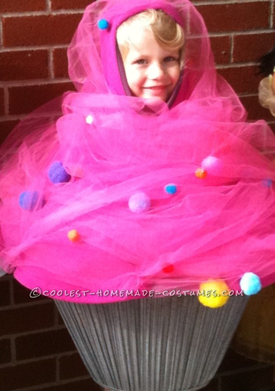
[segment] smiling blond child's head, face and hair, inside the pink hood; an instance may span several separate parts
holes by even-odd
[[[163,11],[153,9],[123,22],[116,39],[131,94],[167,102],[180,79],[181,26]]]

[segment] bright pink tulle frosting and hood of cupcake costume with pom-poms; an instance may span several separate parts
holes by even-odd
[[[148,8],[184,30],[167,103],[131,96],[116,45],[117,27]],[[250,294],[273,283],[275,137],[246,122],[217,75],[195,7],[98,0],[68,56],[77,92],[63,96],[62,115],[39,109],[14,130],[18,147],[2,149],[0,266],[42,292],[191,291],[214,280]]]

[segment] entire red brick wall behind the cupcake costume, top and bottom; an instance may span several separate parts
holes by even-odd
[[[129,0],[131,1],[131,0]],[[0,139],[24,114],[72,88],[66,47],[89,0],[0,0]],[[254,61],[275,44],[274,0],[195,0],[219,72],[251,119],[274,118],[257,102]],[[271,391],[273,368],[229,350],[205,391]],[[53,301],[30,299],[0,279],[0,390],[97,390]]]

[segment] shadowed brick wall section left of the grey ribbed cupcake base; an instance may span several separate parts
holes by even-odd
[[[12,276],[0,278],[0,390],[100,391],[53,300],[30,299]]]

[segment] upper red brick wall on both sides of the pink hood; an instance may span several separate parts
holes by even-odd
[[[66,47],[90,0],[0,1],[0,140],[32,109],[72,89]],[[274,118],[257,102],[254,62],[275,43],[274,0],[194,0],[219,72],[250,119]]]

